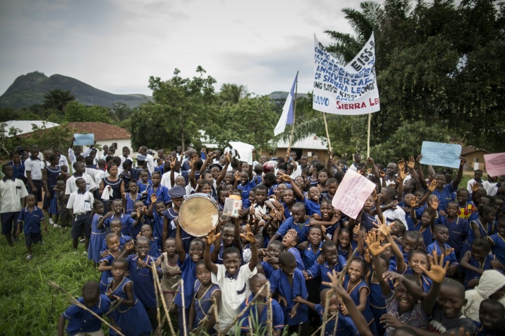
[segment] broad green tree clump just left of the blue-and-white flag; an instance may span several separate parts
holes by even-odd
[[[221,147],[227,146],[228,141],[242,141],[257,149],[267,149],[279,119],[274,108],[268,96],[246,97],[236,104],[224,104],[211,127],[205,128],[206,135]]]

